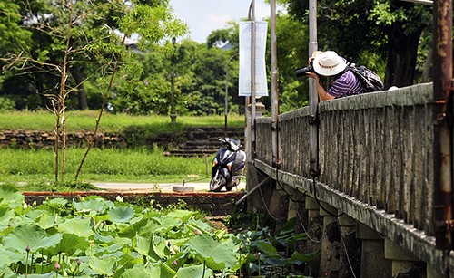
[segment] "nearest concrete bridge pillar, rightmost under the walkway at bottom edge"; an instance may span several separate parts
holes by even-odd
[[[385,258],[392,262],[392,277],[426,277],[426,263],[390,239],[385,239]]]

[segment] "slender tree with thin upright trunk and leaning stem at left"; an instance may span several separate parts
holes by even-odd
[[[79,89],[80,92],[84,80],[83,74],[79,73],[84,73],[81,70],[84,64],[91,61],[91,67],[84,68],[99,72],[101,79],[108,80],[94,128],[95,135],[104,108],[111,98],[114,75],[119,67],[127,69],[127,64],[121,64],[121,62],[127,60],[125,57],[132,54],[124,47],[126,37],[137,34],[143,45],[150,45],[158,43],[164,37],[179,36],[186,32],[186,25],[171,14],[168,1],[142,2],[145,4],[140,1],[48,0],[34,2],[31,5],[27,2],[27,5],[24,5],[23,14],[27,17],[23,24],[36,36],[37,43],[29,49],[23,47],[20,52],[10,53],[2,61],[6,63],[8,69],[14,69],[16,72],[27,75],[43,74],[56,79],[48,91],[42,92],[50,101],[51,110],[55,115],[55,181],[58,180],[60,168],[60,139],[63,139],[61,177],[64,181],[66,99],[72,91]],[[106,15],[111,16],[106,17]],[[107,25],[95,28],[96,22],[101,21],[111,23],[117,29],[114,30]],[[121,43],[115,31],[122,34]],[[78,83],[73,82],[73,86],[69,86],[71,82],[68,81],[68,72],[71,72],[71,69],[82,77]],[[75,179],[93,143],[94,137],[89,141]]]

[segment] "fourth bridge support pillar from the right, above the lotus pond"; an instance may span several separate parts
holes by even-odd
[[[340,277],[341,231],[339,229],[337,208],[322,203],[320,215],[323,216],[321,235],[320,274],[327,277]]]

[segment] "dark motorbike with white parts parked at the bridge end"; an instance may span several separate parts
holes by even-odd
[[[231,191],[233,187],[240,184],[246,153],[242,150],[242,145],[235,139],[223,138],[219,140],[222,141],[223,146],[212,158],[210,191],[219,192],[222,187]]]

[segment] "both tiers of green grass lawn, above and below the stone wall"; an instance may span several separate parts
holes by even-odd
[[[67,131],[94,130],[97,111],[67,113]],[[54,129],[54,115],[48,111],[12,111],[0,113],[0,129]],[[147,136],[162,132],[182,131],[186,127],[223,127],[224,117],[131,116],[105,113],[100,125],[104,132],[128,129],[146,130]],[[229,116],[229,127],[244,127],[244,117]],[[74,181],[85,149],[67,149],[64,182]],[[208,182],[210,158],[166,157],[161,149],[91,149],[78,181],[163,183]],[[61,181],[61,165],[59,181]],[[45,185],[55,180],[55,156],[49,149],[0,149],[0,182]]]

